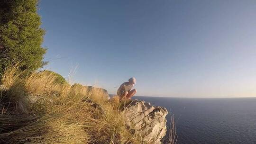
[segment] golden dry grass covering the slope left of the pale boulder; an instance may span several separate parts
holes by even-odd
[[[44,72],[2,74],[0,144],[141,144],[102,89],[55,83]]]

